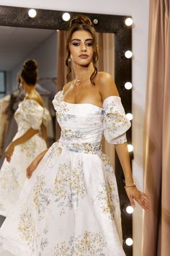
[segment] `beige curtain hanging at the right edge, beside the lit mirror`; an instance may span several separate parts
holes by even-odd
[[[150,1],[146,100],[145,192],[142,256],[170,253],[170,17],[169,0]]]

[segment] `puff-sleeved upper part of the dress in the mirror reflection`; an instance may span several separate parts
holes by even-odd
[[[42,122],[47,126],[51,119],[47,108],[40,106],[37,101],[30,99],[19,103],[14,118],[17,121],[18,131],[22,134],[30,128],[40,129]]]

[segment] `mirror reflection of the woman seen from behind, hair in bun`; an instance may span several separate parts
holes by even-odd
[[[37,63],[25,61],[19,77],[25,92],[24,101],[14,114],[18,130],[6,149],[6,159],[0,171],[0,215],[7,216],[14,207],[26,179],[26,168],[37,155],[47,148],[46,125],[50,121],[48,110],[35,90]],[[40,133],[42,137],[40,137]]]

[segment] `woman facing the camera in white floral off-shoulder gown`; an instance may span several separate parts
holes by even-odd
[[[1,228],[1,244],[14,255],[125,256],[120,203],[112,165],[102,154],[105,138],[116,145],[130,202],[148,210],[147,195],[133,182],[125,116],[112,77],[97,72],[97,42],[88,17],[71,21],[68,76],[55,95],[61,138],[35,158],[19,202]]]

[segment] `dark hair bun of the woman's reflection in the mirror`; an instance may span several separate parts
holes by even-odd
[[[37,62],[34,59],[27,59],[21,71],[21,77],[27,85],[35,85],[37,82]]]

